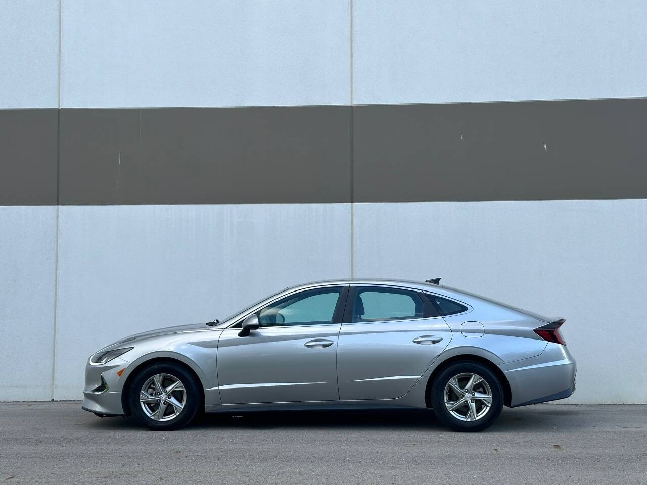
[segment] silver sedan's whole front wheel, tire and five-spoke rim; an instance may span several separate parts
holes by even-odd
[[[193,420],[201,404],[198,385],[182,365],[153,363],[131,383],[131,412],[149,429],[170,431],[184,427]]]

